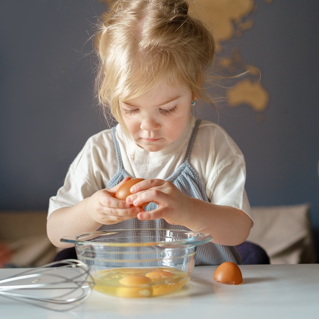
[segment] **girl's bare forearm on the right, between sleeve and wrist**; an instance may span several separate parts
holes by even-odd
[[[212,235],[212,242],[235,246],[243,243],[250,232],[252,221],[243,211],[192,199],[189,218],[184,226]]]

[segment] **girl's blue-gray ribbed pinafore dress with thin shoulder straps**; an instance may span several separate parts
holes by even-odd
[[[166,180],[171,181],[181,192],[190,197],[201,199],[204,201],[209,201],[205,191],[204,182],[189,162],[199,124],[200,120],[198,119],[193,129],[191,139],[189,141],[188,149],[185,154],[184,163]],[[115,135],[115,127],[112,128],[112,136],[116,150],[118,172],[113,176],[113,178],[111,178],[111,180],[107,184],[107,188],[114,187],[126,176],[130,176],[123,168],[120,147]],[[155,209],[156,207],[156,203],[149,203],[144,208],[145,210],[149,211]],[[198,214],[200,214],[200,211],[198,212]],[[123,222],[113,225],[103,225],[99,228],[99,230],[136,228],[165,228],[189,230],[187,227],[183,227],[181,225],[171,225],[167,223],[164,219],[140,221],[137,218],[125,220]],[[212,236],[214,237],[214,234],[212,234]],[[207,243],[199,245],[197,247],[195,255],[195,265],[218,265],[225,261],[232,261],[235,263],[241,262],[240,255],[238,254],[235,247],[217,245],[214,243]]]

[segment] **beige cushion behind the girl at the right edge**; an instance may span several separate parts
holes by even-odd
[[[315,263],[316,256],[307,203],[252,207],[255,225],[248,241],[261,246],[271,263]]]

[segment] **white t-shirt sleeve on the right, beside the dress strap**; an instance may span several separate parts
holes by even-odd
[[[244,211],[253,221],[245,190],[245,157],[227,132],[217,124],[203,121],[199,143],[204,160],[198,164],[211,203]],[[209,137],[209,138],[208,138]],[[205,148],[205,150],[203,150]]]

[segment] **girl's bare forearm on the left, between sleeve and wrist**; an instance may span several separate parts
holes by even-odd
[[[52,212],[47,220],[47,236],[56,247],[67,248],[72,245],[60,242],[64,236],[98,229],[97,223],[88,214],[88,199],[71,207],[63,207]]]

